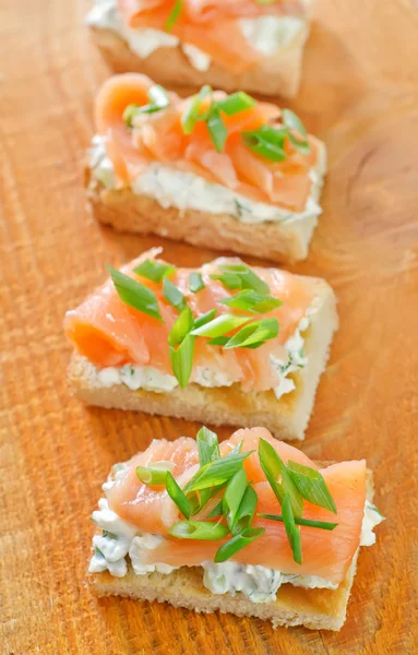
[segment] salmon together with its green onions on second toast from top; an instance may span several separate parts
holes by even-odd
[[[256,103],[244,94],[235,94],[235,109],[229,105],[224,110],[231,96],[206,87],[202,97],[181,99],[168,93],[164,106],[142,111],[150,105],[148,94],[154,86],[145,75],[127,73],[107,80],[97,96],[96,126],[105,138],[119,184],[131,186],[153,163],[164,164],[174,170],[198,174],[252,200],[291,212],[306,207],[319,142],[310,135],[301,136],[295,127],[286,127],[288,114],[282,115],[275,105]],[[126,111],[130,107],[134,112],[128,123]],[[184,126],[193,110],[189,129]],[[214,141],[214,122],[220,144]],[[289,124],[304,131],[298,119]],[[272,148],[278,155],[272,155]]]

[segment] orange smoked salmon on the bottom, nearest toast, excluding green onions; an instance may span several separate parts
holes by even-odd
[[[238,430],[228,441],[220,444],[222,455],[230,452],[234,445],[241,441],[243,441],[241,449],[243,452],[256,451],[260,439],[268,441],[285,463],[292,460],[304,466],[318,468],[296,448],[273,439],[265,428]],[[196,446],[193,449],[192,440],[182,438],[175,442],[164,441],[159,449],[153,442],[144,453],[131,460],[127,475],[109,491],[108,502],[117,514],[136,525],[139,529],[167,535],[169,527],[181,520],[175,503],[167,499],[166,491],[146,487],[134,474],[134,468],[139,464],[144,465],[143,462],[150,463],[157,458],[176,462],[174,475],[180,486],[183,486],[198,469]],[[249,480],[254,483],[259,497],[256,512],[280,514],[279,503],[265,480],[256,452],[246,460],[244,467]],[[338,523],[337,527],[334,531],[324,531],[301,526],[303,556],[302,563],[297,564],[292,559],[284,524],[255,517],[253,525],[265,527],[265,533],[237,552],[232,558],[234,561],[270,567],[283,573],[319,575],[335,584],[344,580],[360,544],[366,502],[366,462],[363,460],[343,462],[320,468],[320,472],[334,499],[337,515],[303,501],[303,517]],[[144,553],[146,561],[143,563],[164,562],[174,567],[200,565],[204,561],[214,559],[222,543],[220,540],[189,541],[169,537],[156,549]]]

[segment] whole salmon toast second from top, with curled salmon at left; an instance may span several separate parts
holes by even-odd
[[[325,146],[289,109],[204,86],[182,99],[135,73],[107,80],[86,167],[94,214],[274,261],[308,255]]]

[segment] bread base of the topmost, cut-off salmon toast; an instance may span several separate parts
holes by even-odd
[[[142,59],[116,32],[92,27],[95,44],[115,72],[140,72],[167,86],[195,88],[210,84],[227,92],[241,88],[262,95],[295,97],[301,78],[304,43],[309,35],[309,21],[292,40],[275,57],[264,58],[243,73],[235,74],[212,62],[207,71],[198,71],[189,62],[180,46],[162,47]]]

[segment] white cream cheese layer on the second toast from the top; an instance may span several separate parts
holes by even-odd
[[[106,153],[105,138],[96,134],[89,150],[89,167],[93,178],[106,189],[115,189],[118,183],[114,166]],[[210,214],[228,214],[240,223],[294,223],[317,218],[322,210],[318,203],[326,172],[326,150],[322,144],[318,163],[312,168],[311,193],[302,212],[291,212],[278,206],[256,202],[236,193],[232,189],[207,181],[192,172],[176,170],[157,162],[144,170],[132,183],[133,193],[147,195],[164,207],[176,207],[180,212],[194,210]]]

